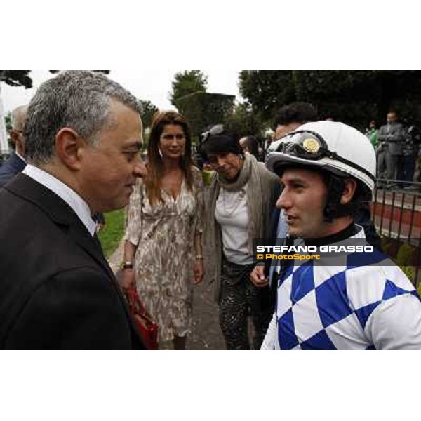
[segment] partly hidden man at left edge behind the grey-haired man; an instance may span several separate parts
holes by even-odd
[[[25,138],[23,137],[23,125],[25,123],[25,117],[27,113],[27,105],[13,109],[12,112],[12,130],[11,138],[15,143],[15,152],[12,152],[11,156],[4,161],[0,167],[0,187],[3,187],[6,182],[15,177],[16,174],[23,171],[26,166],[26,162],[23,156],[25,156]]]

